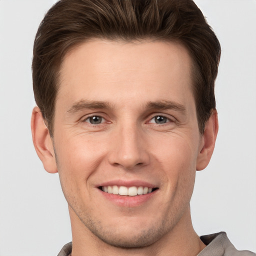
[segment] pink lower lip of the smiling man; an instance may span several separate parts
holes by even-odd
[[[145,203],[146,201],[148,201],[152,196],[155,195],[155,193],[158,191],[158,189],[156,189],[148,194],[141,194],[141,195],[135,195],[135,196],[110,194],[110,193],[106,193],[100,189],[98,189],[98,191],[107,200],[112,201],[113,203],[117,204],[118,206],[135,207],[135,206],[139,206],[139,205]]]

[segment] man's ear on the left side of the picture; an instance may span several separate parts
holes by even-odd
[[[31,131],[35,151],[47,172],[57,172],[52,139],[39,107],[35,106],[31,117]]]

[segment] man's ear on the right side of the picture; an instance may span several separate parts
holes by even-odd
[[[218,133],[218,116],[217,111],[212,110],[211,116],[205,123],[204,132],[201,140],[200,151],[197,155],[196,170],[204,169],[211,158],[215,141]]]

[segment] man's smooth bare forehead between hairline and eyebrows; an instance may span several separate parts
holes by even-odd
[[[191,59],[181,44],[91,40],[70,50],[60,72],[58,98],[72,100],[185,100]],[[152,98],[154,97],[154,98]],[[175,98],[176,97],[176,98]],[[183,97],[183,99],[182,99]]]

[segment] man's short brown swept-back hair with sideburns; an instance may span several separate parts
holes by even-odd
[[[192,0],[60,0],[39,25],[32,61],[35,101],[51,135],[63,57],[91,38],[183,44],[193,61],[193,95],[199,131],[203,133],[215,109],[220,44]]]

